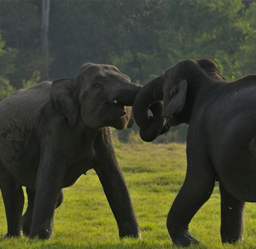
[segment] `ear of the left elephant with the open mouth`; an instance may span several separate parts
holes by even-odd
[[[73,96],[72,82],[73,79],[57,79],[49,92],[53,112],[67,116],[71,126],[76,123],[79,115],[79,106]]]

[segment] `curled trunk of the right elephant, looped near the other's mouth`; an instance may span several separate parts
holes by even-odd
[[[141,128],[140,135],[147,142],[155,140],[166,123],[162,103],[159,103],[162,100],[162,82],[162,76],[148,82],[137,94],[133,105],[133,116]],[[148,109],[153,113],[149,118]]]

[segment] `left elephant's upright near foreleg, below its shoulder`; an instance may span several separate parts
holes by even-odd
[[[53,230],[56,200],[63,186],[65,174],[63,155],[53,149],[49,136],[42,140],[42,155],[36,179],[36,197],[29,237],[49,239]]]

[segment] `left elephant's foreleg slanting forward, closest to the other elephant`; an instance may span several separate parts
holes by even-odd
[[[94,170],[101,180],[104,193],[117,220],[119,236],[140,237],[128,187],[118,166],[111,137],[108,134],[98,137],[95,148],[97,148],[97,156]]]

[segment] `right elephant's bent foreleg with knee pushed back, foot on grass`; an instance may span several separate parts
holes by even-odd
[[[189,222],[209,199],[215,183],[213,167],[209,160],[203,160],[202,157],[202,154],[198,158],[194,156],[195,161],[188,157],[186,180],[167,217],[167,228],[176,246],[199,243],[189,233]]]

